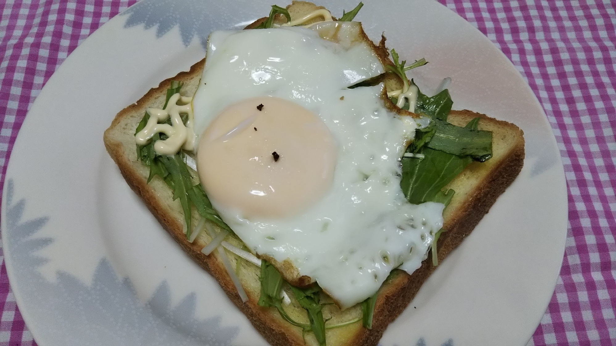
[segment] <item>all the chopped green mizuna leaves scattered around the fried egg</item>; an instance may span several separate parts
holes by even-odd
[[[343,12],[340,21],[351,21],[354,19],[357,12],[362,8],[363,3],[360,2],[350,12]],[[290,22],[291,17],[288,11],[279,6],[272,6],[269,17],[256,28],[271,28],[274,23],[275,15],[282,14]],[[405,66],[405,61],[399,62],[399,57],[395,50],[392,49],[392,58],[394,66],[385,66],[386,73],[397,74],[405,86],[414,84],[414,81],[409,81],[405,72],[423,66],[427,62],[425,59],[417,60],[409,66]],[[369,79],[368,81],[360,82],[352,87],[362,87],[376,85],[381,82],[381,76]],[[172,81],[171,86],[166,92],[166,101],[164,107],[172,95],[180,92],[182,82]],[[350,87],[350,88],[352,88]],[[397,103],[395,98],[392,102]],[[477,126],[479,119],[473,119],[465,127],[454,126],[447,122],[447,116],[452,109],[453,101],[447,89],[438,94],[428,97],[418,91],[418,97],[415,107],[415,113],[428,116],[431,118],[431,124],[423,129],[417,129],[415,140],[410,143],[407,148],[407,153],[419,154],[413,157],[402,158],[402,179],[400,187],[409,201],[409,203],[420,204],[428,201],[443,203],[447,206],[455,191],[442,189],[463,171],[464,167],[468,166],[473,160],[484,162],[492,157],[492,132],[479,131]],[[402,107],[408,110],[408,102]],[[181,115],[182,121],[186,123],[187,115]],[[147,124],[150,116],[146,112],[136,129],[141,131]],[[166,123],[171,123],[168,119]],[[201,217],[215,223],[221,228],[232,232],[230,227],[221,219],[217,212],[213,209],[208,197],[203,190],[203,187],[188,170],[185,162],[187,153],[180,150],[172,156],[158,155],[153,147],[156,140],[166,139],[164,134],[156,134],[152,141],[147,145],[137,145],[137,157],[142,163],[150,167],[147,182],[158,175],[166,182],[169,188],[173,191],[173,199],[178,199],[182,210],[184,211],[186,236],[190,239],[192,233],[191,220],[192,208],[195,207]],[[445,231],[441,229],[434,235],[434,241],[431,245],[432,264],[437,265],[437,241],[441,233]],[[395,271],[395,270],[394,270]],[[390,277],[392,274],[390,274]],[[318,284],[313,284],[308,288],[296,288],[286,283],[282,275],[269,262],[261,261],[261,294],[258,305],[262,307],[274,307],[278,310],[282,318],[288,323],[302,328],[303,332],[312,332],[321,346],[326,345],[325,330],[331,328],[339,328],[356,323],[359,320],[363,321],[363,326],[367,329],[372,327],[372,318],[374,315],[376,299],[378,291],[373,296],[362,302],[362,318],[352,321],[347,321],[341,324],[326,326],[326,321],[323,318],[323,305],[320,302],[320,294],[322,289]],[[299,323],[294,321],[283,308],[283,299],[281,296],[283,286],[288,285],[293,293],[294,299],[298,304],[306,310],[309,324]]]

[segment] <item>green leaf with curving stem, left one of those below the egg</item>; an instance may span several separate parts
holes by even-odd
[[[282,308],[280,291],[282,290],[282,285],[285,283],[285,280],[283,280],[282,275],[280,275],[280,272],[278,272],[274,265],[266,260],[261,260],[261,276],[259,276],[259,280],[261,281],[261,296],[257,304],[261,307],[277,308],[278,313],[280,313],[280,316],[282,316],[285,321],[304,329],[304,332],[310,331],[310,326],[308,324],[294,321],[286,314],[285,309]]]

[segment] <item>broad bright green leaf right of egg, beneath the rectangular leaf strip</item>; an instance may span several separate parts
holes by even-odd
[[[423,154],[424,159],[402,158],[400,187],[404,196],[413,204],[450,200],[451,192],[444,193],[441,189],[460,174],[472,159],[428,147],[421,148],[418,153]]]

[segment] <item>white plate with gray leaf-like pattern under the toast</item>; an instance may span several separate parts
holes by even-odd
[[[211,30],[240,28],[271,2],[144,0],[49,79],[15,142],[1,218],[10,282],[39,345],[265,344],[134,196],[102,134],[118,111],[200,60]],[[334,15],[356,4],[323,2]],[[381,344],[525,344],[553,292],[567,222],[543,110],[505,55],[437,2],[367,2],[357,19],[400,56],[430,62],[409,73],[426,94],[452,77],[455,109],[511,121],[526,139],[518,179]]]

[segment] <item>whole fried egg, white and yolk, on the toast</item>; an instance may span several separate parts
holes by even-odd
[[[394,268],[419,268],[444,205],[410,204],[400,188],[415,119],[384,107],[382,84],[348,89],[384,72],[349,39],[359,23],[317,29],[210,35],[192,102],[197,167],[251,251],[289,260],[346,308]]]

